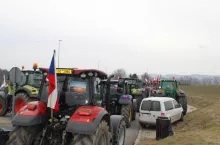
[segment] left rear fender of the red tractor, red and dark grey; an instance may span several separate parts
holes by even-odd
[[[35,106],[34,110],[27,108],[28,104]],[[31,126],[42,124],[48,121],[47,104],[40,101],[33,101],[22,107],[13,117],[11,123],[13,125]]]

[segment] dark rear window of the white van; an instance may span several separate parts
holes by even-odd
[[[161,111],[159,101],[143,101],[141,110],[144,111]]]

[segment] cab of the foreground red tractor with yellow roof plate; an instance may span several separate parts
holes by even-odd
[[[82,105],[95,105],[99,90],[97,82],[107,78],[107,74],[94,69],[57,68],[57,90],[60,111]],[[47,102],[49,82],[43,84],[41,98]]]

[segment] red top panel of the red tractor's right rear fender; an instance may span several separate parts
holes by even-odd
[[[79,115],[78,111],[81,109],[90,109],[91,115]],[[90,123],[95,120],[99,113],[101,113],[102,111],[105,111],[105,109],[97,106],[81,106],[74,112],[70,120],[73,122]]]

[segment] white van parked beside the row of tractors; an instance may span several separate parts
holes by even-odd
[[[141,126],[156,125],[157,117],[169,117],[171,123],[183,121],[183,108],[173,98],[149,97],[142,100],[139,108],[139,123]]]

